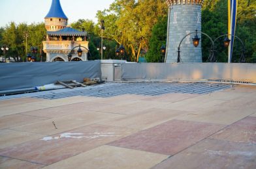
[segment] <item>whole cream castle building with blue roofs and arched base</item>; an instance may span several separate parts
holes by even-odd
[[[62,10],[59,0],[52,0],[50,11],[44,19],[47,34],[46,40],[42,44],[47,62],[88,60],[88,34],[85,31],[67,27],[68,18]],[[81,47],[79,49],[82,50],[82,55],[78,55],[72,50],[77,50],[78,46]]]

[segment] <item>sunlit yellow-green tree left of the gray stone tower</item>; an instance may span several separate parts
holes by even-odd
[[[105,23],[111,20],[112,26],[109,32],[106,31],[106,36],[112,34],[110,38],[123,44],[128,53],[131,51],[131,60],[138,61],[140,51],[148,50],[157,18],[165,15],[167,5],[164,0],[116,0],[108,10],[98,12],[97,16],[99,20],[105,19]]]

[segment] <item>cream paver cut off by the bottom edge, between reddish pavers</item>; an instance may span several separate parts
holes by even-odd
[[[167,159],[167,155],[134,149],[101,146],[46,168],[151,168]]]

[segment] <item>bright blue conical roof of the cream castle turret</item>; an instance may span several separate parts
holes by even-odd
[[[65,16],[62,8],[61,3],[59,3],[59,0],[52,0],[52,6],[44,18],[63,18],[68,19],[67,16]]]

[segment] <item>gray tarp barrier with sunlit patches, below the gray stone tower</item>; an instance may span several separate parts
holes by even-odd
[[[256,64],[249,63],[123,63],[123,80],[225,79],[256,83]]]

